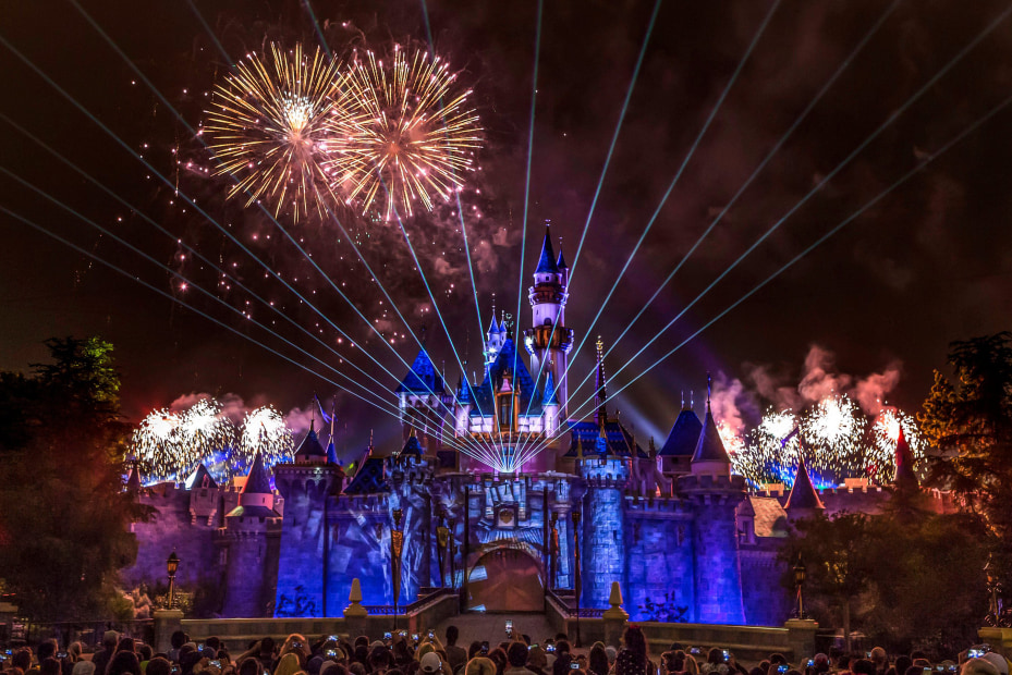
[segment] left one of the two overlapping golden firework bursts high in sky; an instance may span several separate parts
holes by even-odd
[[[236,180],[230,198],[264,199],[296,221],[310,208],[322,214],[320,196],[334,198],[324,159],[350,123],[342,81],[319,49],[271,44],[267,59],[247,54],[216,85],[203,133],[221,162],[215,174]]]

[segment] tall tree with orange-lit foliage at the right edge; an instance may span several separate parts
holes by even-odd
[[[936,371],[917,416],[936,449],[928,483],[951,490],[987,525],[995,568],[1012,581],[1012,333],[953,342],[954,383]],[[981,563],[983,565],[983,563]]]

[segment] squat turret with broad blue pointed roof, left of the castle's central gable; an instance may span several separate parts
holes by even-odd
[[[435,455],[442,449],[442,425],[453,409],[453,396],[447,391],[442,376],[436,370],[425,346],[418,351],[411,370],[398,385],[403,441],[414,429],[426,454]]]

